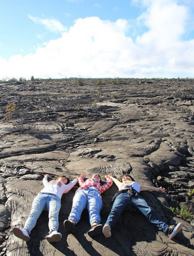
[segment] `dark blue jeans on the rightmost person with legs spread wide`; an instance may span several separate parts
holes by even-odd
[[[137,210],[142,212],[142,214],[145,215],[151,223],[157,226],[159,230],[162,230],[165,234],[168,233],[168,224],[162,221],[161,217],[159,217],[148,203],[146,203],[145,199],[139,195],[130,196],[129,193],[121,193],[115,198],[105,225],[108,225],[112,229],[124,210]]]

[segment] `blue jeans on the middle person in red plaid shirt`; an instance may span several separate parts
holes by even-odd
[[[87,190],[79,189],[76,192],[68,220],[74,220],[77,224],[86,203],[89,212],[90,225],[92,226],[93,223],[101,223],[100,212],[102,209],[102,198],[98,190],[90,187]]]

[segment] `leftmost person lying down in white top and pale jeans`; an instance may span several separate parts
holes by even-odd
[[[49,212],[49,234],[46,236],[46,239],[49,242],[58,242],[62,238],[61,233],[58,233],[58,215],[61,208],[61,197],[62,194],[69,192],[76,185],[77,178],[72,182],[65,175],[59,176],[57,180],[48,181],[48,178],[51,178],[51,176],[46,174],[42,180],[45,187],[33,200],[32,209],[24,228],[13,228],[14,235],[26,242],[30,240],[30,232],[36,226],[36,221],[44,209]]]

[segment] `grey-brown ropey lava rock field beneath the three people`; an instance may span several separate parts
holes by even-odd
[[[172,207],[193,211],[193,79],[77,79],[0,84],[1,119],[15,103],[17,112],[0,122],[0,255],[194,255],[194,223]],[[22,123],[22,125],[21,125]],[[45,174],[73,180],[98,172],[130,173],[142,185],[167,193],[142,192],[168,224],[183,229],[170,240],[138,212],[123,212],[112,237],[90,238],[87,211],[70,235],[63,221],[71,210],[74,187],[62,196],[62,239],[52,245],[48,213],[40,215],[29,242],[12,234],[23,226]],[[104,180],[104,178],[103,178]],[[104,194],[102,224],[117,187]]]

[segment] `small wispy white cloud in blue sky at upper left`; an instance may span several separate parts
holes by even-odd
[[[64,32],[67,30],[67,27],[64,27],[60,21],[55,20],[54,18],[39,18],[29,15],[29,18],[33,20],[36,24],[42,24],[46,29],[51,32]]]

